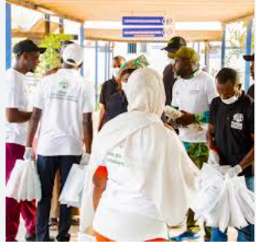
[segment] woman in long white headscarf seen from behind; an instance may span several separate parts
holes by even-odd
[[[142,68],[126,87],[128,112],[94,141],[83,189],[80,234],[93,225],[97,241],[166,241],[167,225],[184,220],[198,170],[161,114],[165,90],[156,71]],[[106,178],[93,177],[99,166]]]

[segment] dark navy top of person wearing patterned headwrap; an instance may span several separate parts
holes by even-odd
[[[123,112],[127,112],[128,101],[126,99],[126,94],[122,91],[114,93],[107,106],[107,121],[113,120],[116,116]]]

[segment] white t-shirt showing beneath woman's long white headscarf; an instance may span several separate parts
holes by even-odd
[[[126,166],[124,143],[107,154],[107,189],[95,213],[94,230],[114,241],[146,241],[168,238],[165,221],[145,193],[136,188]]]

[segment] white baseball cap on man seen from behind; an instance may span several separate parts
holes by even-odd
[[[78,44],[69,44],[64,48],[62,59],[71,66],[80,66],[83,63],[83,48]]]

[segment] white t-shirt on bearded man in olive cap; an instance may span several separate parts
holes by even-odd
[[[199,70],[192,78],[179,78],[174,83],[172,106],[198,114],[209,111],[212,99],[217,96],[214,78]],[[204,143],[208,124],[203,124],[202,128],[202,131],[196,128],[180,128],[180,139],[188,143]]]

